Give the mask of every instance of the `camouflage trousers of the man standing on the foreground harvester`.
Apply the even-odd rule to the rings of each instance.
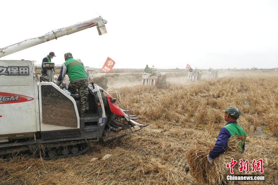
[[[86,111],[86,104],[88,101],[88,80],[79,80],[79,81],[72,81],[68,85],[68,90],[71,91],[73,94],[80,94],[80,107],[81,107],[81,114],[85,114]]]

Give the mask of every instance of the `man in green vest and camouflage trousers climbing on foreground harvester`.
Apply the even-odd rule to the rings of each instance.
[[[65,63],[62,64],[60,75],[57,79],[56,85],[60,85],[65,77],[65,74],[70,78],[68,90],[76,94],[77,90],[80,94],[81,117],[85,115],[86,103],[88,101],[88,71],[83,63],[72,57],[71,53],[65,53]]]

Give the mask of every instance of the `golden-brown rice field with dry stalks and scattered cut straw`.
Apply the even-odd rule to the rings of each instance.
[[[265,176],[265,181],[229,184],[278,184],[277,76],[117,90],[126,108],[148,127],[121,139],[92,143],[77,157],[2,159],[0,184],[198,184],[190,175],[186,153],[198,142],[216,141],[225,124],[221,110],[229,106],[242,111],[238,123],[247,133],[244,158],[262,158]]]

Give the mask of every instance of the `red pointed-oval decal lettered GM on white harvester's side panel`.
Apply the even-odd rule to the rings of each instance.
[[[13,103],[20,103],[25,101],[31,101],[34,98],[29,96],[13,94],[9,92],[0,92],[0,104],[13,104]]]

